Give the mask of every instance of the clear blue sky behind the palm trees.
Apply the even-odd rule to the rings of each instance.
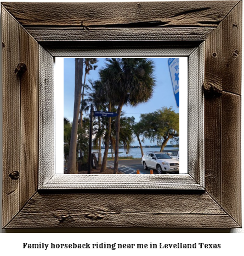
[[[136,107],[123,106],[122,111],[125,116],[135,117],[135,121],[138,122],[141,113],[154,112],[162,107],[172,107],[173,110],[179,113],[179,108],[176,105],[171,76],[168,67],[168,58],[150,58],[155,64],[154,77],[156,80],[156,86],[152,98],[146,102],[139,104]],[[99,69],[104,66],[105,58],[98,58],[98,68],[91,70],[87,75],[86,83],[88,79],[93,81],[99,79]],[[88,83],[89,84],[89,83]],[[72,122],[73,119],[73,101],[75,94],[75,58],[64,58],[64,117]],[[139,145],[137,139],[135,139],[132,145]],[[150,143],[149,140],[145,140],[143,145],[156,145]]]

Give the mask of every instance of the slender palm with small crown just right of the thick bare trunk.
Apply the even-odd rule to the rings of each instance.
[[[86,88],[86,77],[89,75],[90,70],[95,70],[98,66],[95,65],[98,62],[97,58],[84,58],[84,82],[82,86],[82,94],[81,94],[81,110],[80,110],[80,127],[82,128],[82,119],[83,119],[83,100],[84,100],[84,89]]]

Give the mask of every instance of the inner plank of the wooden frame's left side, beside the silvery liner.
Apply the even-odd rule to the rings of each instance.
[[[38,43],[20,28],[20,208],[38,186]]]

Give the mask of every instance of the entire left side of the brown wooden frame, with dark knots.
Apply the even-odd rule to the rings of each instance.
[[[4,8],[2,17],[4,226],[37,190],[38,43]]]

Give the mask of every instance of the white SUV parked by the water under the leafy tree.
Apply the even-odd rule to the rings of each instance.
[[[141,159],[141,164],[145,170],[156,169],[158,174],[163,172],[179,173],[180,170],[179,161],[163,152],[146,152]]]

